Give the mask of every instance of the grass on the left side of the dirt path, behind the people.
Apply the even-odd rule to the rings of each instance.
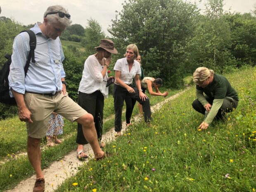
[[[169,90],[170,97],[179,90]],[[151,104],[156,104],[164,97],[150,97]],[[114,99],[111,95],[104,101],[104,133],[114,127]],[[125,106],[123,107],[125,109]],[[137,105],[133,111],[133,115],[137,114]],[[123,112],[123,120],[125,120],[125,112]],[[76,145],[76,123],[70,123],[64,120],[64,133],[58,138],[64,139],[63,143],[55,147],[44,147],[42,152],[42,168],[47,168],[53,161],[62,159],[67,153],[75,150]],[[18,117],[0,121],[0,191],[7,190],[17,185],[21,180],[28,178],[34,174],[33,168],[29,164],[26,155],[26,125],[19,121]],[[74,157],[76,158],[76,157]]]

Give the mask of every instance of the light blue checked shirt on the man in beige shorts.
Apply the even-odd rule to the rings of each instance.
[[[56,40],[46,38],[36,24],[31,30],[36,34],[36,63],[30,62],[28,72],[24,66],[28,57],[29,35],[20,33],[14,39],[12,47],[12,64],[10,65],[9,87],[21,94],[28,92],[52,93],[62,90],[61,78],[65,77],[62,62],[64,54],[59,37]],[[10,91],[11,97],[12,91]]]

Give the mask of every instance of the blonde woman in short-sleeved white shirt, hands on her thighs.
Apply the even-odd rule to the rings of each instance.
[[[122,109],[123,101],[126,95],[142,104],[144,120],[149,123],[151,120],[151,109],[149,98],[142,92],[140,85],[140,63],[136,59],[139,50],[135,44],[126,47],[125,57],[118,59],[114,66],[115,84],[114,84],[114,107],[115,107],[115,131],[116,135],[121,135],[122,129]],[[136,87],[133,85],[135,78]]]

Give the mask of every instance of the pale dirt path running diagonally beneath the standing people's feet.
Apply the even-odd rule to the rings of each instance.
[[[175,99],[179,95],[183,94],[187,89],[168,97],[163,102],[159,102],[158,104],[151,107],[152,113],[154,111],[159,110],[166,102]],[[140,120],[140,116],[137,115],[134,118],[134,122]],[[122,133],[126,131],[126,122],[124,121],[122,124]],[[115,131],[114,128],[111,128],[107,133],[102,135],[102,140],[106,143],[114,140]],[[84,150],[87,154],[90,154],[90,158],[93,158],[93,152],[90,145],[84,145]],[[90,159],[89,158],[89,159]],[[43,170],[43,174],[45,176],[45,192],[53,192],[57,189],[58,185],[61,185],[64,180],[69,178],[72,175],[75,175],[77,172],[77,168],[82,166],[86,161],[79,161],[76,158],[76,151],[70,152],[60,161],[53,162],[48,168]],[[33,186],[36,180],[36,175],[31,176],[30,178],[21,181],[14,189],[8,190],[5,192],[31,192],[33,191]]]

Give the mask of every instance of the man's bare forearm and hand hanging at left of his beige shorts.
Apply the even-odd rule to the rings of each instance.
[[[24,101],[24,95],[12,90],[12,94],[17,102],[18,110],[19,110],[19,119],[21,121],[33,123],[31,120],[31,112],[26,107],[25,101]]]

